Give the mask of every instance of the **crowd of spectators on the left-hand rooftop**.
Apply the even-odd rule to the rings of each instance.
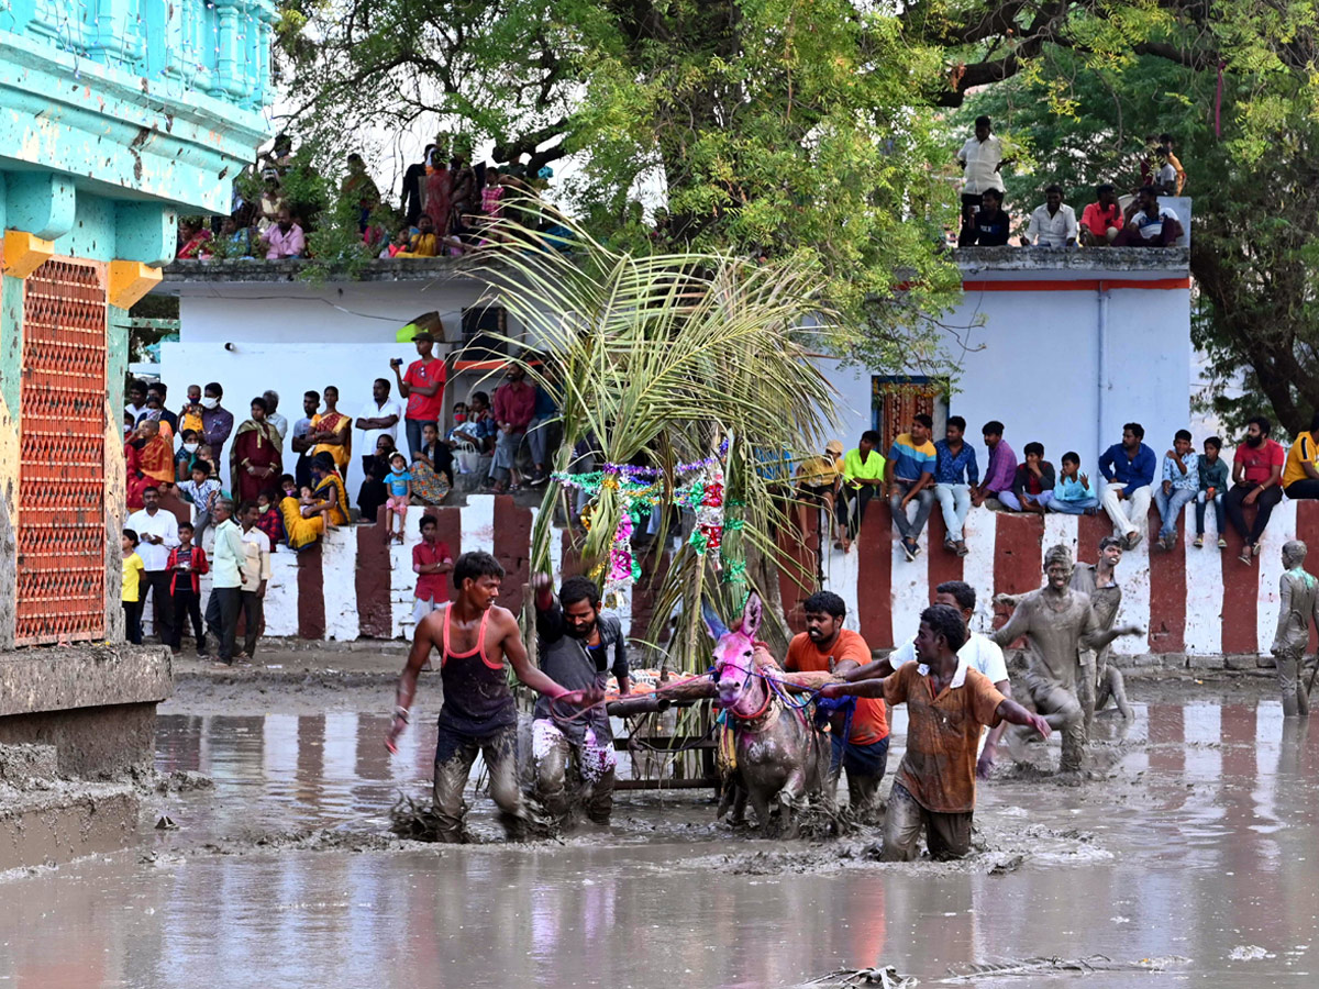
[[[372,256],[459,256],[499,240],[500,220],[514,214],[525,225],[554,227],[538,208],[539,195],[554,174],[547,166],[530,175],[520,160],[504,165],[471,162],[460,149],[448,153],[431,144],[422,161],[404,173],[397,206],[381,196],[360,154],[350,154],[346,166],[339,202],[352,211],[361,245]],[[244,173],[245,181],[235,183],[227,216],[179,220],[175,257],[274,261],[313,256],[309,235],[324,222],[330,207],[297,195],[299,185],[289,177],[299,167],[305,166],[295,162],[291,141],[281,135],[273,149]]]

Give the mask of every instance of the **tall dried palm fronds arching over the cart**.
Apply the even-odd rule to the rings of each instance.
[[[715,253],[619,253],[571,220],[559,223],[567,231],[561,237],[501,227],[503,241],[481,252],[479,264],[489,301],[522,330],[508,342],[546,357],[545,365],[522,361],[528,377],[561,396],[555,471],[571,469],[574,446],[584,439],[607,463],[657,468],[660,489],[673,492],[683,480],[677,464],[729,442],[728,517],[740,522],[727,530],[723,559],[733,566],[687,545],[656,595],[657,626],[687,605],[674,642],[677,666],[694,669],[704,638],[702,593],[716,596],[723,584],[731,612],[741,605],[748,556],[765,563],[751,568],[752,583],[797,567],[776,533],[789,524],[794,460],[823,447],[836,402],[811,360],[813,344],[823,349],[826,336],[839,339],[819,297],[823,280],[798,257],[757,264]],[[533,570],[549,568],[557,497],[551,484],[533,531]],[[621,508],[608,487],[590,506],[580,547],[586,572],[608,559]],[[658,628],[648,636],[658,641]]]

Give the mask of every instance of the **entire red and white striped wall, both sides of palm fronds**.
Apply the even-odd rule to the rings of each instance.
[[[534,510],[517,506],[508,496],[472,496],[466,508],[426,512],[439,520],[439,538],[455,558],[467,550],[487,550],[504,564],[508,578],[500,603],[520,608]],[[274,578],[266,589],[266,634],[336,641],[410,637],[417,580],[412,549],[421,538],[421,513],[409,512],[402,546],[386,546],[379,526],[346,526],[299,554],[281,547],[272,559]],[[1212,512],[1206,522],[1207,546],[1196,550],[1184,535],[1195,530],[1188,506],[1177,547],[1163,553],[1150,549],[1158,533],[1158,516],[1150,512],[1149,537],[1125,554],[1119,567],[1119,620],[1137,622],[1148,633],[1144,638],[1119,640],[1115,647],[1120,654],[1266,651],[1277,622],[1282,543],[1304,539],[1315,547],[1319,567],[1319,502],[1283,501],[1273,513],[1254,566],[1237,559],[1241,539],[1235,533],[1228,533],[1225,550],[1216,547]],[[874,649],[915,634],[921,611],[944,580],[966,580],[976,588],[973,624],[985,630],[1002,620],[1004,609],[995,614],[996,593],[1022,593],[1041,585],[1049,546],[1066,543],[1080,560],[1093,563],[1099,541],[1109,531],[1103,514],[1041,518],[972,509],[966,529],[971,554],[959,558],[943,550],[943,518],[936,506],[921,537],[921,555],[907,562],[893,538],[888,505],[874,500],[852,551],[845,556],[840,550],[828,551],[824,585],[847,601],[848,624]],[[555,570],[572,572],[574,563],[565,556],[566,539],[551,545]],[[813,559],[803,562],[815,572]],[[644,559],[648,572],[662,563],[663,558]],[[781,592],[789,622],[799,628],[799,603],[809,591],[785,576]],[[646,626],[650,595],[645,587],[632,593],[627,611],[625,629]]]

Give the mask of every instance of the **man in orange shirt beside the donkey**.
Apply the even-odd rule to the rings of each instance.
[[[806,632],[787,646],[783,669],[789,673],[832,673],[842,676],[871,662],[871,647],[860,634],[843,628],[847,605],[836,593],[816,591],[806,599]],[[849,709],[851,708],[851,709]],[[847,791],[857,811],[871,808],[880,791],[880,779],[889,761],[889,719],[884,702],[860,698],[844,705],[820,704],[831,713],[834,758],[830,771],[834,786],[847,770]]]

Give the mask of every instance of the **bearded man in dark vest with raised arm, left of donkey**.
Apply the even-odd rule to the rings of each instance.
[[[600,609],[600,588],[584,576],[571,576],[555,600],[549,574],[537,574],[536,634],[541,671],[565,690],[604,690],[612,673],[619,694],[628,694],[628,642],[619,616]],[[532,721],[532,758],[536,795],[558,819],[570,812],[568,774],[587,816],[608,824],[613,810],[613,732],[609,716],[596,707],[566,720],[549,695],[536,703]]]

